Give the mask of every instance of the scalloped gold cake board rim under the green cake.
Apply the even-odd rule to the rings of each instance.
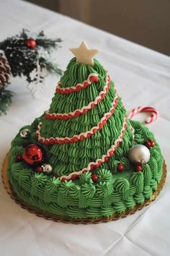
[[[151,202],[156,200],[156,197],[159,195],[161,192],[161,189],[164,187],[164,183],[166,180],[166,163],[164,161],[164,166],[163,166],[163,174],[161,176],[161,180],[158,183],[158,187],[156,191],[153,192],[153,195],[151,198],[145,200],[142,204],[135,205],[133,209],[125,210],[123,213],[115,213],[112,216],[109,217],[100,217],[100,218],[69,218],[69,217],[63,217],[63,216],[56,216],[54,214],[50,214],[44,211],[41,211],[38,208],[32,207],[31,205],[27,205],[19,198],[17,195],[14,193],[14,190],[12,189],[12,186],[9,184],[9,180],[7,177],[7,168],[8,168],[8,161],[9,161],[9,153],[6,154],[6,157],[4,159],[4,163],[2,166],[2,181],[4,183],[4,187],[8,194],[12,197],[12,199],[15,200],[19,205],[21,205],[22,208],[28,210],[30,213],[35,213],[36,216],[52,220],[52,221],[57,221],[57,222],[64,222],[64,223],[74,223],[74,224],[88,224],[88,223],[101,223],[101,222],[108,222],[108,221],[116,221],[120,218],[125,218],[131,214],[134,214],[137,210],[143,209],[146,205],[150,205]]]

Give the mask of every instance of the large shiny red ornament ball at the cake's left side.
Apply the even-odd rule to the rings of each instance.
[[[43,160],[42,149],[36,144],[31,144],[24,149],[22,158],[26,163],[30,164],[30,166],[41,163]]]

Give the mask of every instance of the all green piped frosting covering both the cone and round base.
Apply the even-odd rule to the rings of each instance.
[[[91,73],[98,74],[98,82],[91,82],[86,90],[68,95],[55,93],[50,104],[50,113],[68,113],[87,106],[104,88],[107,72],[97,60],[94,59],[94,67],[91,67],[78,64],[73,58],[61,77],[62,88],[83,82]],[[20,200],[58,216],[98,218],[134,208],[136,204],[143,203],[146,198],[153,195],[161,179],[163,158],[153,133],[138,121],[127,121],[127,129],[115,154],[95,170],[97,182],[93,181],[90,171],[73,181],[60,180],[60,176],[79,171],[88,166],[89,162],[101,158],[120,136],[126,115],[120,98],[114,114],[109,117],[107,123],[88,139],[68,144],[41,145],[35,137],[40,121],[41,135],[44,137],[72,137],[89,131],[98,124],[105,113],[109,112],[114,97],[115,88],[111,81],[109,92],[104,99],[86,114],[73,119],[55,121],[45,119],[43,114],[30,126],[22,127],[30,129],[31,135],[27,139],[22,139],[18,133],[12,140],[8,168],[9,182]],[[131,126],[135,129],[135,141]],[[133,164],[128,160],[128,151],[133,144],[144,144],[148,139],[155,142],[154,148],[150,149],[150,161],[143,164],[141,172],[135,172]],[[53,174],[58,174],[58,178],[53,174],[38,174],[34,167],[28,166],[24,161],[17,162],[16,155],[22,155],[24,148],[31,143],[40,145],[45,150],[45,161],[53,166]],[[122,172],[117,171],[118,163],[124,165]]]

